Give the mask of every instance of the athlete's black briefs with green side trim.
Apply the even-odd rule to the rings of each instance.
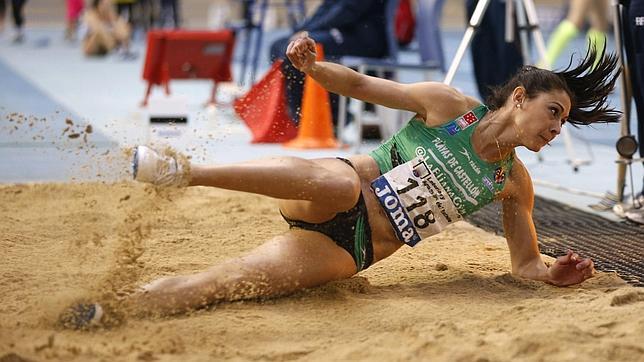
[[[351,161],[339,158],[353,167]],[[353,167],[355,169],[355,167]],[[317,231],[333,240],[339,247],[346,250],[356,263],[358,271],[367,269],[373,263],[373,245],[371,243],[371,227],[367,215],[367,204],[362,192],[354,207],[350,210],[339,212],[329,221],[319,224],[308,223],[300,220],[282,217],[291,228]]]

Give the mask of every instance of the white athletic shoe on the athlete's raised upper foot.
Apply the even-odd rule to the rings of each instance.
[[[184,181],[183,165],[176,157],[159,154],[147,146],[137,146],[132,158],[134,180],[157,186],[180,186]]]

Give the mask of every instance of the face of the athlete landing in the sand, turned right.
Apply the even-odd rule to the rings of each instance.
[[[523,87],[512,95],[519,143],[537,152],[561,132],[570,113],[570,97],[560,89],[528,98]]]

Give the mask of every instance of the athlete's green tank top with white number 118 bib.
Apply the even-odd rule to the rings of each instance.
[[[489,163],[471,138],[488,112],[480,105],[439,127],[411,119],[370,153],[381,176],[371,183],[400,241],[414,246],[494,200],[514,160]]]

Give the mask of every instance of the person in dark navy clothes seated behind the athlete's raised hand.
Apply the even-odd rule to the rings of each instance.
[[[311,17],[296,26],[295,32],[271,45],[270,60],[284,59],[282,72],[286,76],[286,96],[291,119],[299,123],[304,73],[285,59],[286,48],[292,39],[303,32],[324,47],[327,58],[345,55],[385,57],[387,42],[385,22],[386,0],[324,0]],[[331,105],[337,119],[337,96]]]

